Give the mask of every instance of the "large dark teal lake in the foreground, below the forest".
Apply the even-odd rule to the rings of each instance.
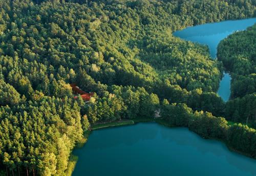
[[[256,175],[256,160],[230,152],[187,128],[138,123],[93,131],[73,176]]]

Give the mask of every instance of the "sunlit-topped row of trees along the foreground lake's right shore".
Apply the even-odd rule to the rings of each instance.
[[[184,104],[170,105],[166,101],[161,112],[163,124],[188,127],[203,138],[221,139],[232,149],[256,157],[256,130],[247,125],[228,125],[223,117],[215,117],[209,112],[194,112]]]

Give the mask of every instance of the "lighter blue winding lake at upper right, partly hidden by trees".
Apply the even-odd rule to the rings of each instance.
[[[210,56],[216,58],[217,46],[221,40],[236,31],[242,31],[252,26],[256,22],[256,18],[243,20],[229,20],[215,23],[202,24],[195,27],[189,27],[174,33],[174,36],[184,40],[206,44],[210,49]],[[224,73],[224,77],[220,82],[218,94],[226,102],[230,96],[229,74]]]

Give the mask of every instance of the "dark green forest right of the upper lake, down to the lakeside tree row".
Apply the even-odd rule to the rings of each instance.
[[[256,24],[234,33],[218,46],[218,59],[231,75],[226,117],[256,127]]]

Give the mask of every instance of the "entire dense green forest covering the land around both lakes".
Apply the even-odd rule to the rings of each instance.
[[[172,35],[255,17],[255,1],[0,0],[0,7],[0,175],[68,175],[71,152],[93,125],[156,112],[256,157],[256,131],[246,125],[255,125],[255,106],[239,103],[248,96],[255,104],[255,84],[248,92],[236,86],[255,82],[255,49],[244,49],[255,46],[255,27],[225,39],[218,60],[207,46]],[[229,42],[240,37],[237,54]],[[237,70],[243,64],[249,72]],[[223,70],[236,79],[227,104],[216,94]],[[79,91],[93,95],[84,101]],[[249,107],[249,118],[226,111],[233,104]]]

